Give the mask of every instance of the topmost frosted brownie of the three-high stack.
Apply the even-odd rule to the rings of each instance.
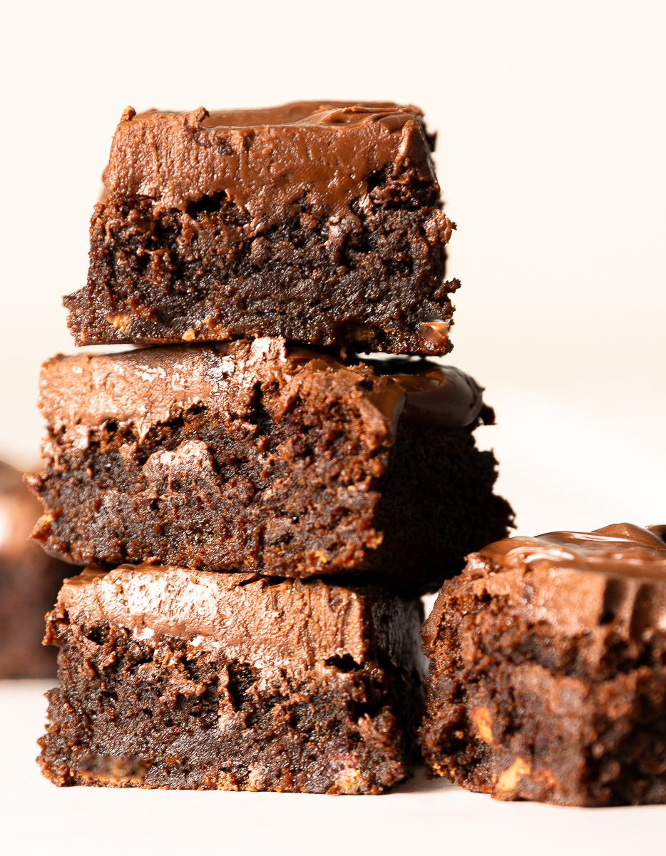
[[[256,336],[443,354],[451,223],[413,105],[128,108],[90,229],[78,344]]]

